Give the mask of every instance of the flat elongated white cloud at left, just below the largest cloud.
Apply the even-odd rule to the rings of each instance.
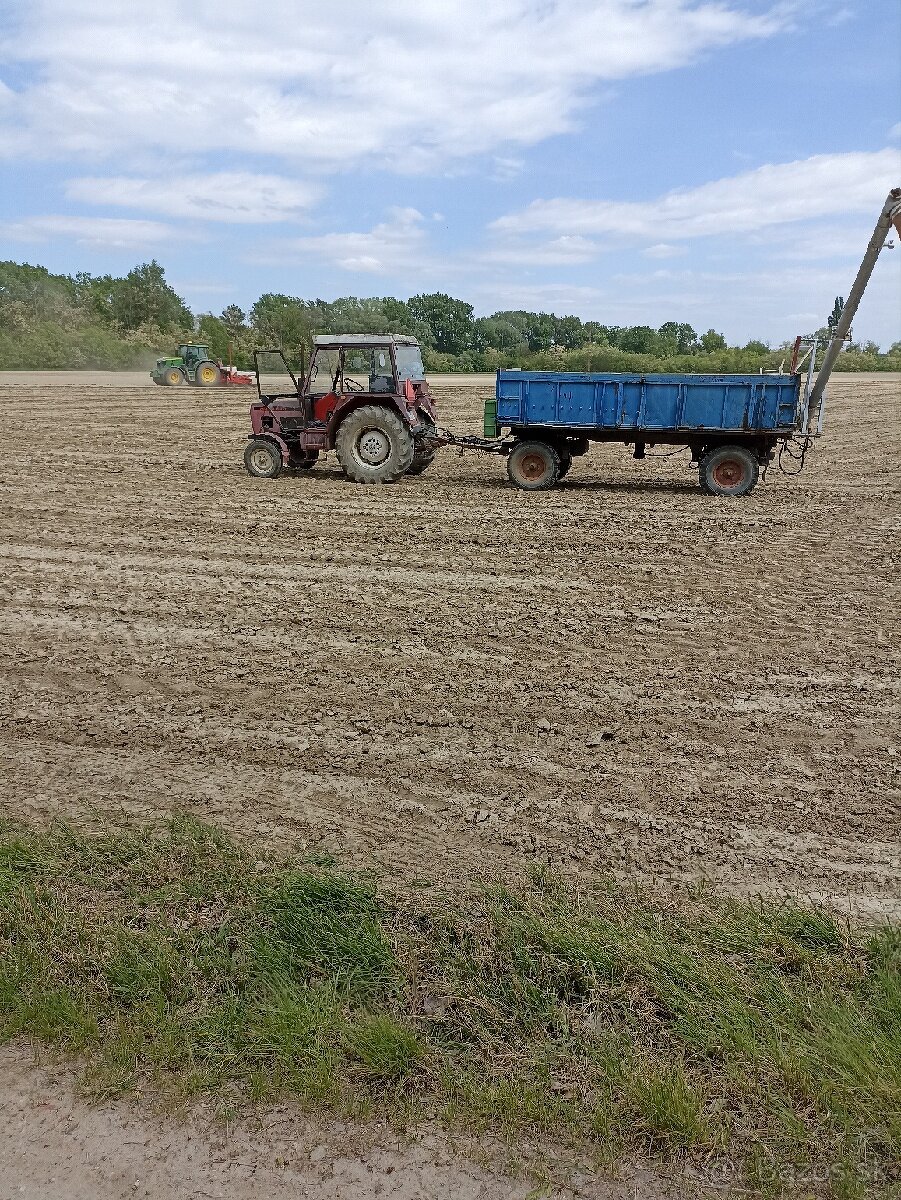
[[[202,221],[266,223],[295,220],[320,196],[310,184],[281,175],[211,172],[158,179],[73,179],[66,196],[88,204],[115,205]]]

